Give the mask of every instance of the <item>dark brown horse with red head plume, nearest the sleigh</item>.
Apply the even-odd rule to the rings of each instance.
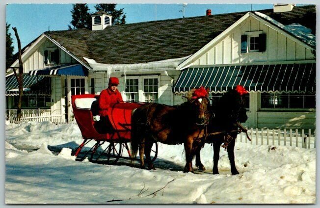
[[[138,147],[140,165],[144,168],[143,154],[148,161],[148,168],[155,169],[150,152],[154,142],[169,145],[184,143],[186,152],[185,172],[192,172],[192,158],[200,151],[206,134],[210,105],[208,92],[201,87],[193,90],[190,99],[178,106],[164,104],[145,104],[137,108],[132,116],[131,151],[135,158]]]

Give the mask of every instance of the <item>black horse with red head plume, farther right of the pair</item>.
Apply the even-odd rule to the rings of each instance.
[[[242,86],[238,85],[236,89],[229,90],[220,98],[220,100],[209,108],[210,111],[214,113],[214,117],[210,120],[208,125],[206,143],[213,143],[213,174],[219,174],[219,152],[220,146],[224,142],[227,142],[226,148],[231,164],[231,173],[232,175],[239,174],[235,164],[234,148],[238,134],[236,131],[240,127],[239,124],[248,119],[241,97],[246,93],[247,91]],[[240,129],[244,130],[242,127],[240,127]],[[210,136],[210,134],[212,136]],[[205,170],[205,167],[200,160],[200,149],[196,152],[196,166],[199,170]]]

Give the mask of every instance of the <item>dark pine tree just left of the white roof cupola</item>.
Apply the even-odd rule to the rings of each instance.
[[[70,23],[73,27],[68,25],[69,29],[87,28],[91,30],[91,16],[88,5],[86,3],[76,3],[72,6],[72,21]]]

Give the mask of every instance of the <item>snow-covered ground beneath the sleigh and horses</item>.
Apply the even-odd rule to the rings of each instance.
[[[183,145],[159,144],[157,170],[75,161],[82,142],[77,124],[29,122],[6,125],[7,204],[304,204],[316,202],[316,149],[236,143],[239,175],[232,176],[220,150],[219,175],[212,174],[213,149],[201,151],[208,171],[183,173]],[[93,144],[92,144],[93,145]],[[48,146],[60,147],[53,154]],[[27,152],[27,151],[28,152]],[[138,162],[134,162],[138,166]]]

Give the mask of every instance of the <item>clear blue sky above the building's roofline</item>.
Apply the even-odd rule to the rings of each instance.
[[[95,12],[95,4],[88,4],[90,12]],[[185,7],[185,17],[240,11],[270,9],[273,4],[192,4]],[[183,4],[117,4],[117,9],[124,8],[126,23],[138,23],[155,20],[182,18]],[[157,15],[156,15],[157,8]],[[72,4],[13,4],[6,7],[6,22],[11,25],[9,32],[14,38],[14,53],[18,51],[17,41],[12,27],[17,27],[22,48],[48,30],[65,30],[71,25]]]

